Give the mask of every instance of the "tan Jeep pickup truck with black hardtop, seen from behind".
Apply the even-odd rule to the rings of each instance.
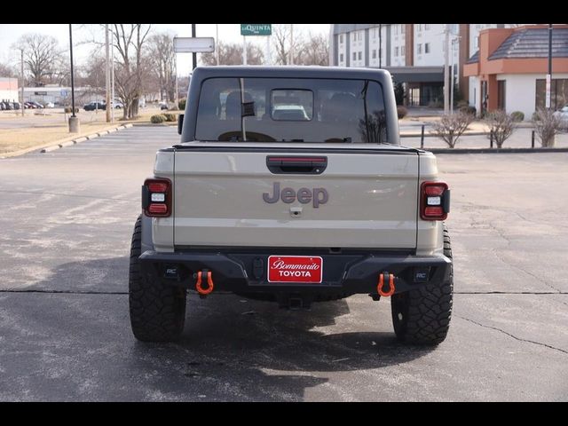
[[[292,309],[390,298],[400,340],[446,338],[450,191],[433,154],[400,146],[387,71],[198,67],[184,117],[142,186],[130,254],[139,340],[179,338],[188,291]]]

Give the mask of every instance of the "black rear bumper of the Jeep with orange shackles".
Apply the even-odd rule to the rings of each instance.
[[[152,250],[140,257],[142,278],[159,280],[164,284],[195,289],[196,273],[212,272],[215,292],[234,293],[312,293],[349,296],[377,295],[381,272],[396,276],[395,293],[450,280],[452,261],[446,256],[412,256],[406,254],[323,254],[317,250],[310,256],[323,258],[321,283],[278,283],[267,280],[267,259],[274,254],[286,255],[282,249],[262,252],[175,252],[158,253]],[[284,251],[284,253],[283,253]],[[297,254],[297,250],[295,251]]]

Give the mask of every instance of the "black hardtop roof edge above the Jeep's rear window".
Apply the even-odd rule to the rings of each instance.
[[[274,78],[347,78],[390,80],[390,73],[384,69],[351,67],[305,67],[305,66],[217,66],[196,67],[192,78],[204,80],[211,77],[274,77]]]

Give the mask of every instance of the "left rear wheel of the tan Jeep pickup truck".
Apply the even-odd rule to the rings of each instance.
[[[142,217],[138,216],[130,246],[129,303],[134,336],[143,342],[169,342],[179,338],[185,322],[185,289],[142,280],[140,256]]]

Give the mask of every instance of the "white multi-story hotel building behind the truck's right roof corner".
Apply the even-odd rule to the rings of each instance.
[[[513,24],[332,24],[330,64],[339,67],[383,67],[406,86],[405,103],[442,106],[446,29],[448,66],[461,99],[469,99],[469,79],[460,73],[477,51],[485,28]]]

